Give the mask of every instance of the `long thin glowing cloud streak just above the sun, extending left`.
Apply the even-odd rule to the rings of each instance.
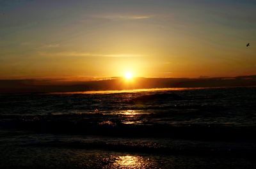
[[[140,54],[93,54],[86,52],[38,52],[48,57],[143,57]]]

